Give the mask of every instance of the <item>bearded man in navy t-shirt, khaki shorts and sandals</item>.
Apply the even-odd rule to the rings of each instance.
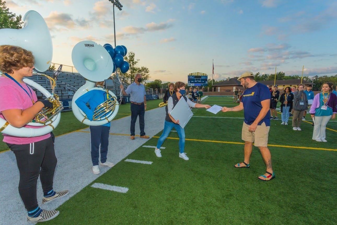
[[[238,81],[246,88],[242,95],[242,102],[233,108],[222,108],[222,112],[244,110],[245,120],[242,126],[242,140],[245,141],[244,161],[234,167],[249,167],[254,142],[254,145],[260,149],[267,167],[266,173],[259,176],[258,179],[269,181],[275,177],[271,154],[267,147],[270,129],[270,91],[266,85],[254,80],[252,72],[243,73]]]

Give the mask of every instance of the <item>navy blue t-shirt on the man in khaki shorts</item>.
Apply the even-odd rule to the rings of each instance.
[[[261,102],[270,99],[269,88],[261,83],[256,83],[251,88],[247,88],[242,95],[242,103],[244,108],[245,123],[251,125],[262,109]],[[269,107],[269,106],[268,106]],[[266,126],[270,126],[270,111],[266,116],[258,123],[261,125],[263,122]]]

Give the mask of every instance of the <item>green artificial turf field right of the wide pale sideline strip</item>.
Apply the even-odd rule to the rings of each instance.
[[[234,104],[228,99],[209,97],[205,104]],[[243,117],[243,112],[214,115],[197,109],[194,116],[185,127],[186,139],[243,142],[243,119],[212,118]],[[337,148],[334,131],[327,131],[329,142],[318,143],[311,139],[309,123],[302,123],[302,131],[280,123],[271,121],[269,144]],[[335,122],[328,127],[337,129]],[[160,135],[145,145],[155,146]],[[171,132],[169,137],[178,136]],[[256,147],[250,168],[238,169],[234,164],[243,160],[243,144],[186,140],[189,161],[178,157],[178,140],[166,139],[162,146],[162,158],[144,147],[127,156],[151,161],[151,165],[122,160],[93,181],[127,187],[127,193],[90,184],[62,204],[60,215],[45,224],[337,223],[336,151],[270,146],[276,178],[264,182],[257,179],[266,168]]]

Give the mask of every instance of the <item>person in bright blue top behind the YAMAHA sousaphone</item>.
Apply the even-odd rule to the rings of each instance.
[[[103,86],[104,81],[97,82],[96,86]],[[102,104],[108,99],[106,92],[103,90],[91,90],[87,93],[81,95],[76,99],[76,105],[87,115],[87,118],[92,121],[94,111],[97,106]],[[89,103],[90,109],[87,107]],[[100,170],[98,167],[99,158],[99,145],[101,146],[101,162],[99,165],[113,167],[114,164],[106,161],[106,155],[108,154],[109,145],[109,132],[110,132],[110,122],[105,123],[100,126],[89,126],[90,128],[90,142],[91,142],[91,161],[92,161],[92,172],[94,174],[99,174]]]

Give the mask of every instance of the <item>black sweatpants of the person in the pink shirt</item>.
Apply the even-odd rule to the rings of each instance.
[[[37,178],[40,175],[43,192],[53,189],[57,159],[52,138],[30,144],[8,144],[17,159],[20,171],[19,194],[27,211],[38,206],[36,198]]]

